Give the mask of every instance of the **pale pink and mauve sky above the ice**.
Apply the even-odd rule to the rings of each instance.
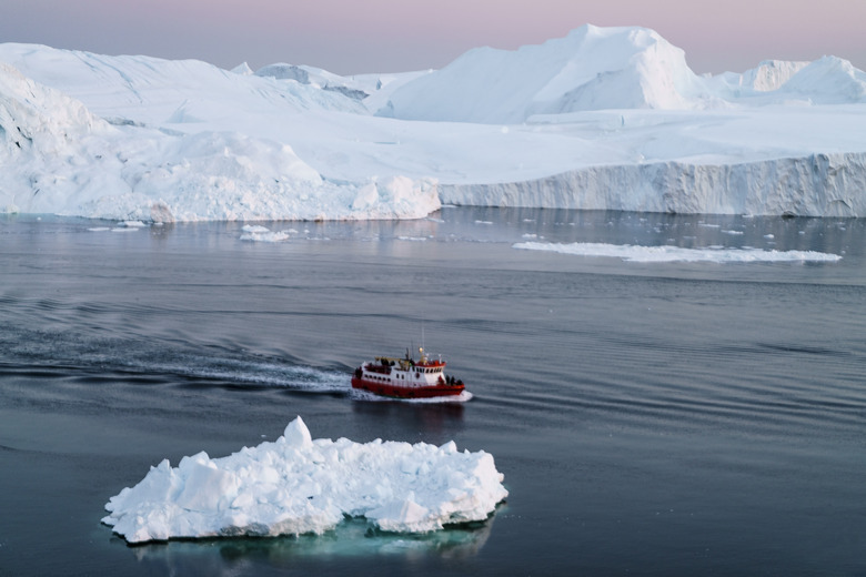
[[[0,42],[339,74],[439,69],[585,23],[652,28],[697,73],[830,54],[866,69],[866,0],[0,0]]]

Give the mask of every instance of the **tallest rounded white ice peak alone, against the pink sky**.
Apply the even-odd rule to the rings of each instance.
[[[534,114],[691,109],[711,99],[685,53],[645,28],[584,26],[516,51],[479,48],[397,89],[379,113],[514,124]]]

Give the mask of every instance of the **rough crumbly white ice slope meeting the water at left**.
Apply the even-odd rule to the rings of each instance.
[[[417,219],[440,207],[433,180],[328,179],[289,144],[208,130],[207,109],[184,100],[165,125],[147,123],[153,110],[109,121],[0,62],[0,211],[174,222]],[[169,128],[185,124],[204,130]]]

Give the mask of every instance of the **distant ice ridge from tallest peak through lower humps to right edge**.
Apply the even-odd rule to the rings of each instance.
[[[480,48],[396,89],[377,113],[404,120],[515,124],[593,110],[717,110],[779,102],[866,102],[850,62],[764,61],[743,74],[699,77],[653,30],[584,26],[516,51]]]

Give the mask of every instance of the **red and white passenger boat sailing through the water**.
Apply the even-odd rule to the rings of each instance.
[[[415,361],[406,351],[403,358],[377,356],[352,375],[352,387],[395,398],[431,398],[463,393],[463,381],[445,375],[445,362],[431,360],[423,348]]]

